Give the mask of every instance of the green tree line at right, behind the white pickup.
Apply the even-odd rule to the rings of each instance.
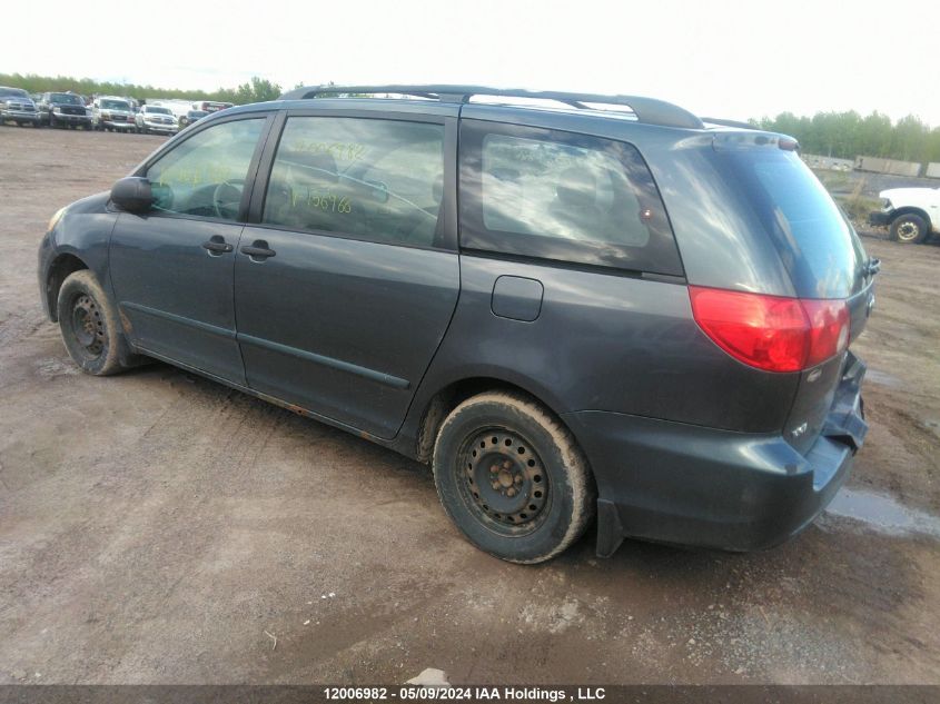
[[[804,153],[841,159],[867,156],[921,163],[940,161],[940,127],[931,130],[913,115],[892,122],[877,111],[867,117],[854,110],[817,112],[813,117],[781,112],[775,118],[751,122],[761,129],[795,137]]]

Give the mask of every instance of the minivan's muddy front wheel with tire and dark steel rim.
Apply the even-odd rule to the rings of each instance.
[[[118,311],[91,271],[82,269],[66,278],[57,310],[62,341],[82,371],[108,376],[123,368],[120,358],[128,350]]]

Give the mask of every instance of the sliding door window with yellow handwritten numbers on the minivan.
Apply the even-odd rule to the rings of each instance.
[[[263,222],[432,247],[444,184],[444,127],[293,117],[278,145]]]

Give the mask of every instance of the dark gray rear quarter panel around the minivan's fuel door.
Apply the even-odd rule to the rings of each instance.
[[[540,280],[541,315],[494,315],[501,276]],[[756,371],[699,329],[684,285],[462,255],[462,291],[422,396],[469,377],[515,384],[555,413],[612,410],[779,430],[798,375]]]

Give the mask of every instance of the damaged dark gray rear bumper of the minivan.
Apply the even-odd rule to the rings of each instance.
[[[845,480],[868,432],[849,354],[822,435],[800,454],[781,435],[606,412],[565,414],[597,482],[597,554],[625,536],[754,551],[799,533]]]

